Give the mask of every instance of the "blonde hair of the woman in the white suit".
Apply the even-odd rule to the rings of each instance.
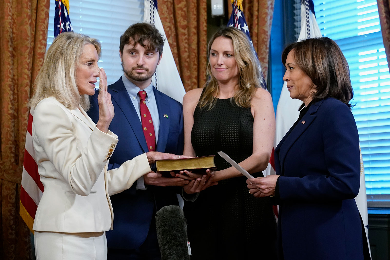
[[[80,95],[76,85],[76,69],[85,44],[92,44],[100,58],[101,45],[97,39],[75,32],[58,35],[49,49],[34,82],[34,94],[29,106],[34,108],[46,97],[55,97],[65,107],[84,110],[90,107],[89,96]]]

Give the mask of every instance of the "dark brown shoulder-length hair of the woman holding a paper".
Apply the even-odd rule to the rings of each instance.
[[[313,101],[333,97],[349,108],[353,106],[349,102],[353,90],[348,63],[336,42],[328,37],[319,37],[290,44],[282,53],[283,65],[292,50],[296,65],[316,85]]]

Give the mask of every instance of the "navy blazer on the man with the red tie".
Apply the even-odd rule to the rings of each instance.
[[[156,97],[160,129],[156,151],[183,154],[184,130],[181,103],[153,88]],[[119,168],[125,161],[148,152],[142,124],[124,87],[122,78],[108,86],[115,116],[110,131],[117,134],[118,144],[109,160],[109,168]],[[96,123],[99,120],[97,92],[91,96],[87,111]],[[168,117],[164,117],[164,115]],[[152,170],[155,170],[155,168]],[[106,232],[108,248],[135,249],[145,241],[153,212],[166,205],[178,205],[176,187],[149,186],[136,190],[137,182],[122,193],[111,196],[114,211],[113,230]]]

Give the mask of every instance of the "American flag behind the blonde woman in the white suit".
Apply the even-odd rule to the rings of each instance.
[[[69,19],[69,1],[55,0],[54,16],[54,37],[62,32],[73,32],[71,20]],[[43,184],[38,173],[38,165],[35,162],[35,152],[32,144],[32,119],[34,109],[30,110],[26,133],[25,154],[23,161],[23,172],[20,188],[20,209],[19,214],[25,221],[31,232],[34,224],[35,213],[43,195]]]

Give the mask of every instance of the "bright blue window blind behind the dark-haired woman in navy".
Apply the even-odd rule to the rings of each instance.
[[[354,90],[369,205],[390,196],[390,74],[375,0],[314,0],[323,36],[339,44]],[[383,204],[387,205],[387,204]]]

